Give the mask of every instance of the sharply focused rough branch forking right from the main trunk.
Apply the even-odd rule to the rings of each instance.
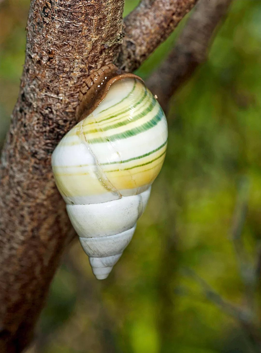
[[[125,19],[120,68],[133,71],[173,32],[197,0],[142,0]]]

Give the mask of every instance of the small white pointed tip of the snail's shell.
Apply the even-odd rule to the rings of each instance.
[[[110,274],[113,265],[116,264],[122,253],[106,257],[89,257],[92,271],[97,280],[104,280]]]

